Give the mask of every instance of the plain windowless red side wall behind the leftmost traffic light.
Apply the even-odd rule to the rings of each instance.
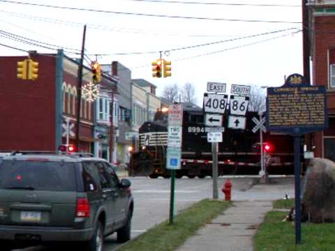
[[[0,57],[0,151],[54,150],[55,58],[38,61],[38,79],[17,79],[17,61],[27,57]]]

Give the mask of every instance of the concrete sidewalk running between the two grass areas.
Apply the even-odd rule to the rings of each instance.
[[[177,251],[253,251],[253,236],[272,210],[272,201],[283,199],[283,190],[280,192],[278,185],[262,184],[248,192],[262,196],[234,201],[234,206],[207,223]],[[285,185],[285,192],[294,192],[293,185]]]

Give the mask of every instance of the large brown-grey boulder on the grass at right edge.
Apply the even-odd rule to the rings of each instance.
[[[302,187],[302,217],[311,222],[335,222],[335,163],[310,160]]]

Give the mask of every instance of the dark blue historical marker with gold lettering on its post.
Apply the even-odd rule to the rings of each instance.
[[[278,88],[267,88],[267,130],[295,138],[295,244],[301,245],[301,135],[328,127],[325,86],[311,86],[292,74]]]

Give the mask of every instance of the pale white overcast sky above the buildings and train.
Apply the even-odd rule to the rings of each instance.
[[[0,0],[0,44],[40,53],[66,47],[75,57],[69,52],[80,52],[87,24],[87,61],[95,54],[100,63],[119,61],[132,78],[158,86],[158,95],[167,84],[188,82],[200,104],[207,82],[280,86],[285,75],[302,74],[301,1],[10,1]],[[54,50],[28,45],[27,38]],[[160,52],[172,61],[172,77],[151,77],[151,61]],[[0,53],[27,55],[1,45]]]

